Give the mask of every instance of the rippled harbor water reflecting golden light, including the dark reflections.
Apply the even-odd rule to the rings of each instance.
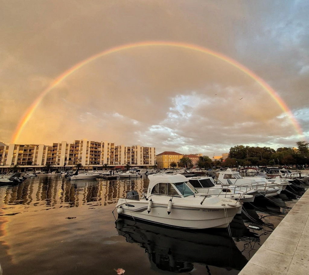
[[[0,186],[3,275],[238,274],[301,196],[296,186],[244,204],[227,229],[182,231],[117,219],[118,198],[146,191],[137,179],[27,178]],[[249,228],[252,223],[262,229]]]

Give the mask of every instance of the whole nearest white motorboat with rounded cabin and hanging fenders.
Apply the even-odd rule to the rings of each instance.
[[[187,229],[226,228],[241,204],[228,198],[198,193],[180,174],[149,175],[147,194],[133,190],[120,198],[119,215]]]

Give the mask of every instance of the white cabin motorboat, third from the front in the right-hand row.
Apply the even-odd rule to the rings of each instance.
[[[220,171],[218,182],[226,185],[253,187],[258,192],[256,198],[261,196],[274,197],[281,192],[276,182],[268,182],[266,178],[260,177],[242,177],[236,171]]]

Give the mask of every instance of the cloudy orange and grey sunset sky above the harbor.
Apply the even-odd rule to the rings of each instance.
[[[0,141],[86,138],[209,156],[295,146],[309,140],[308,14],[306,0],[1,1]],[[57,81],[91,56],[147,41],[235,60],[291,115],[243,70],[192,48],[123,47]]]

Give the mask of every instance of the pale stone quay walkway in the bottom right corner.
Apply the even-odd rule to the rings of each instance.
[[[239,275],[309,274],[309,189]]]

